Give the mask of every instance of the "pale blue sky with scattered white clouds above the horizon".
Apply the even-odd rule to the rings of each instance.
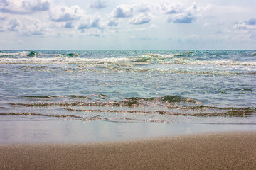
[[[255,0],[0,0],[0,49],[255,50]]]

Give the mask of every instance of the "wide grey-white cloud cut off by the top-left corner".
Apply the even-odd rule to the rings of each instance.
[[[0,2],[0,11],[4,13],[26,14],[48,11],[50,0],[4,0]]]

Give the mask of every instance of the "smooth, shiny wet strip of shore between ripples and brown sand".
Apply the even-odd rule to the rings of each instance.
[[[112,123],[107,121],[1,121],[1,144],[94,143],[256,131],[256,125]]]

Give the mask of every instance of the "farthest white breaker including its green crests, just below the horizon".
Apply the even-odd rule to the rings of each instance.
[[[253,53],[254,54],[254,53]],[[253,55],[252,54],[252,55]],[[23,51],[16,53],[0,53],[0,64],[186,64],[186,65],[218,65],[218,66],[256,66],[256,62],[233,60],[195,60],[190,57],[193,52],[178,54],[147,54],[137,57],[105,57],[85,58],[78,53],[67,54],[41,54],[35,51]],[[41,57],[44,56],[44,57]],[[17,58],[18,57],[18,58]],[[20,58],[21,57],[21,58]],[[129,66],[129,65],[127,65]]]

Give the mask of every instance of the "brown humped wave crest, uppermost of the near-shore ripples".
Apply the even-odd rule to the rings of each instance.
[[[252,91],[251,89],[237,89],[237,90],[247,90]],[[151,98],[142,98],[142,97],[131,97],[124,98],[117,101],[112,101],[105,94],[92,94],[90,96],[79,96],[79,95],[67,95],[67,96],[52,96],[52,95],[42,95],[42,96],[23,96],[21,98],[45,98],[49,103],[9,103],[11,106],[26,106],[26,107],[48,107],[48,106],[60,106],[60,107],[83,107],[83,106],[99,106],[99,107],[130,107],[130,108],[139,108],[140,106],[149,106],[149,107],[164,107],[170,109],[179,110],[196,110],[196,109],[217,109],[217,110],[230,110],[238,111],[240,108],[220,108],[214,106],[205,106],[201,105],[201,102],[195,98],[188,98],[183,96],[171,96],[166,95],[162,97],[151,97]],[[78,98],[85,99],[79,101],[73,101],[70,103],[53,103],[54,98],[64,98],[64,101],[67,101],[68,98]],[[99,100],[100,99],[100,100]],[[102,100],[103,99],[103,100]],[[52,101],[51,101],[52,100]],[[58,100],[59,101],[59,100]],[[256,111],[255,108],[242,108],[242,111]]]

